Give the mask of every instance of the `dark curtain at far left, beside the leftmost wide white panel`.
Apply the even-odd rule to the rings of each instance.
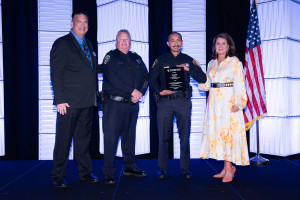
[[[37,1],[2,0],[5,156],[38,159]]]

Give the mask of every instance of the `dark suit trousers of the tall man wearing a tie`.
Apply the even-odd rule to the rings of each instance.
[[[66,176],[66,166],[72,139],[79,176],[83,177],[92,172],[89,152],[92,119],[93,107],[67,108],[67,114],[61,115],[57,113],[53,152],[53,179]]]

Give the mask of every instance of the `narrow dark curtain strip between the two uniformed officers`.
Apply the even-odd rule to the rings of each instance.
[[[149,70],[154,60],[168,51],[168,34],[172,32],[172,0],[149,0]],[[150,154],[144,157],[157,158],[158,131],[156,123],[156,103],[153,92],[150,93]],[[172,137],[171,137],[172,141]],[[173,144],[170,141],[169,155],[173,156]]]

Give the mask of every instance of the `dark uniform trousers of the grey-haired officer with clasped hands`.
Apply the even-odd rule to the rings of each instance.
[[[107,100],[103,105],[104,167],[106,177],[113,177],[114,159],[118,141],[121,147],[125,169],[135,168],[135,134],[139,113],[138,104]]]

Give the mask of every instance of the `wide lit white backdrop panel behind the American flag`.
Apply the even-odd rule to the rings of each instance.
[[[300,153],[300,1],[257,1],[268,116],[259,120],[260,152]],[[256,124],[250,129],[256,152]]]

